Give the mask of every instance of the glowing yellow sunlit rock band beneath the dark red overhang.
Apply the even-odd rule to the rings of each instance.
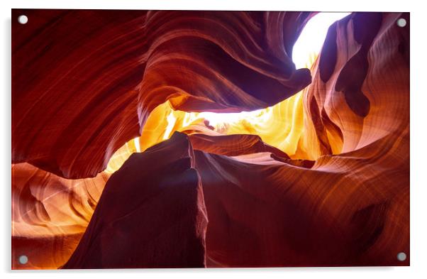
[[[318,53],[312,53],[306,62],[310,68]],[[170,102],[157,106],[148,117],[141,136],[128,141],[109,161],[106,173],[113,173],[134,152],[142,152],[156,143],[165,141],[174,131],[184,133],[207,133],[211,135],[252,134],[262,141],[279,148],[295,159],[315,160],[316,148],[304,140],[311,121],[304,121],[304,96],[309,87],[275,106],[240,113],[185,112],[172,109]],[[312,131],[311,131],[312,132]],[[340,148],[334,148],[339,153]]]

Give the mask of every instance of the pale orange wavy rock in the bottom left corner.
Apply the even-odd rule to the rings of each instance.
[[[12,165],[12,267],[57,268],[79,244],[108,173],[67,180],[28,163]],[[18,263],[21,255],[28,263]]]

